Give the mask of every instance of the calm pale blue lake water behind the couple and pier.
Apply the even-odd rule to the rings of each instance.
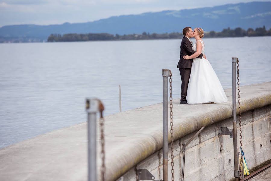
[[[193,39],[193,42],[195,40]],[[232,84],[231,57],[241,85],[271,81],[271,37],[204,39],[223,88]],[[106,115],[162,102],[162,68],[173,74],[181,40],[0,44],[0,148],[87,120],[85,97],[98,97]]]

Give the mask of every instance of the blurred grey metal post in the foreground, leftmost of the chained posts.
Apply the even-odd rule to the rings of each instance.
[[[88,136],[88,181],[97,180],[96,170],[96,113],[99,111],[99,100],[86,100],[87,136]]]

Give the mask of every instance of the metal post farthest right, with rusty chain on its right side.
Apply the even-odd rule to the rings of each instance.
[[[238,58],[232,58],[232,134],[234,154],[234,177],[239,180],[239,158],[237,151],[237,127],[236,127],[236,62]]]

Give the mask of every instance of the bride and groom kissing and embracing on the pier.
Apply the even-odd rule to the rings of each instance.
[[[181,75],[180,104],[203,104],[228,102],[222,85],[204,54],[204,31],[202,28],[191,27],[183,29],[181,41],[181,57],[177,68]],[[196,43],[192,45],[190,38]]]

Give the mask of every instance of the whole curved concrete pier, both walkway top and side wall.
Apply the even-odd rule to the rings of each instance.
[[[243,149],[253,169],[271,160],[271,82],[240,90]],[[225,93],[229,102],[222,104],[180,105],[179,98],[173,100],[176,180],[181,175],[181,144],[203,125],[206,128],[186,148],[184,180],[232,180],[232,139],[217,136],[219,126],[232,129],[232,89]],[[162,179],[162,103],[106,116],[105,140],[106,180],[123,176],[125,181],[135,181],[139,168]],[[86,123],[1,149],[0,180],[87,180]]]

